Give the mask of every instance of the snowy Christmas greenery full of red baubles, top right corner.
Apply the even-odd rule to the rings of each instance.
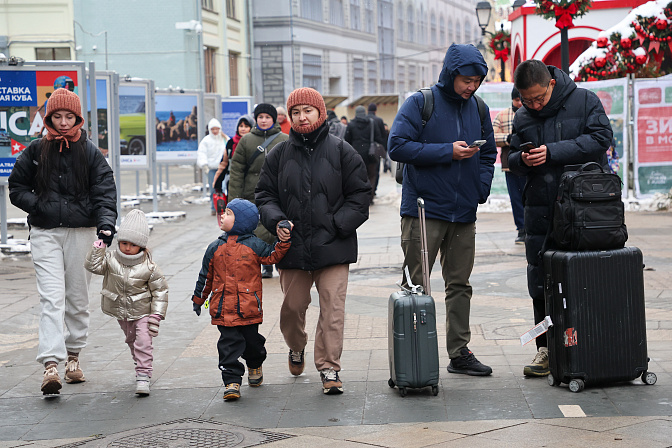
[[[663,57],[672,57],[672,1],[662,12],[664,18],[636,15],[629,35],[614,32],[598,37],[595,46],[603,50],[602,54],[584,63],[575,79],[596,81],[622,78],[629,73],[638,77],[664,75],[660,71]]]

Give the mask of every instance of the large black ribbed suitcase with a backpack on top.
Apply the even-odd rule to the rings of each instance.
[[[648,372],[642,253],[636,247],[544,253],[548,330],[548,383],[631,381]]]

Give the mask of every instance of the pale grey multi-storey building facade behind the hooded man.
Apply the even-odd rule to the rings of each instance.
[[[452,43],[481,39],[475,0],[252,1],[255,99],[273,104],[302,86],[350,105],[397,97],[436,82]]]

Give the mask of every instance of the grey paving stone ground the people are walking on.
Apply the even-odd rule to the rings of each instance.
[[[190,304],[203,252],[219,234],[209,207],[185,202],[198,193],[164,196],[160,209],[186,211],[186,218],[155,224],[150,237],[171,290],[147,398],[134,394],[133,363],[118,324],[100,311],[96,277],[89,344],[81,359],[87,381],[64,384],[57,398],[42,397],[32,261],[0,258],[0,447],[146,446],[150,439],[155,446],[672,446],[672,213],[626,217],[628,245],[642,249],[646,264],[649,369],[658,376],[656,385],[637,380],[573,394],[566,385],[552,388],[545,379],[523,377],[522,367],[535,351],[534,344],[521,347],[518,340],[533,326],[524,248],[514,244],[510,213],[479,213],[470,348],[493,367],[493,375],[449,374],[445,327],[439,325],[439,395],[420,390],[401,398],[387,385],[387,299],[398,289],[402,264],[399,191],[388,176],[381,177],[376,204],[359,232],[359,260],[351,266],[341,396],[321,393],[312,364],[316,301],[307,315],[306,372],[289,374],[276,273],[264,280],[264,385],[244,384],[240,400],[223,402],[218,332]],[[151,210],[151,204],[140,207]],[[25,229],[11,233],[27,235]],[[443,290],[440,269],[431,280],[437,298]],[[444,322],[440,296],[437,313]]]

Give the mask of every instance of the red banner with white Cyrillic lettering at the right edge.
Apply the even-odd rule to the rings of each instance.
[[[635,195],[672,188],[672,77],[635,82]]]

